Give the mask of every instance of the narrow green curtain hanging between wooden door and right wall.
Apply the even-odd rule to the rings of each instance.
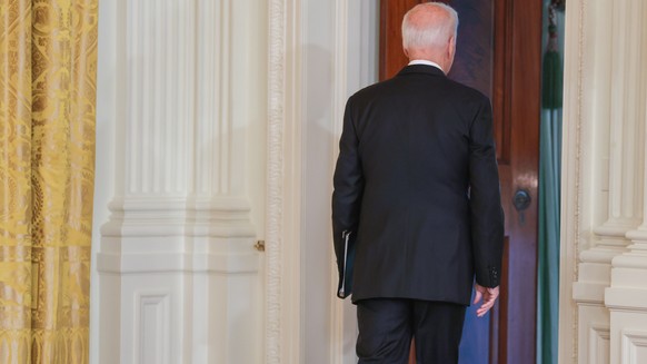
[[[563,63],[557,40],[557,9],[555,1],[548,7],[548,45],[541,86],[537,276],[539,364],[557,364],[558,351]]]

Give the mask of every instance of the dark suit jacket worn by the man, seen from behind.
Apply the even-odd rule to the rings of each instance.
[[[335,170],[332,227],[352,301],[469,304],[499,285],[504,215],[486,96],[415,65],[351,96]],[[345,233],[346,232],[346,233]],[[354,248],[345,267],[346,239]]]

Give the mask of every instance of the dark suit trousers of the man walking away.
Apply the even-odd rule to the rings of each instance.
[[[406,364],[411,337],[418,364],[456,364],[466,306],[372,298],[357,302],[359,363]]]

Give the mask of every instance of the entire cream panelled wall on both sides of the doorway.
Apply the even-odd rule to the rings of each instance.
[[[376,11],[101,1],[92,363],[354,362],[328,181]],[[647,4],[566,17],[560,363],[643,363]]]

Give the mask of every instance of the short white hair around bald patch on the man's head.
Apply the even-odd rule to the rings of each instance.
[[[444,9],[449,17],[439,23],[412,24],[410,14],[421,7]],[[424,2],[411,8],[402,19],[402,48],[429,48],[447,43],[449,38],[456,39],[458,31],[458,13],[450,6],[442,2]]]

